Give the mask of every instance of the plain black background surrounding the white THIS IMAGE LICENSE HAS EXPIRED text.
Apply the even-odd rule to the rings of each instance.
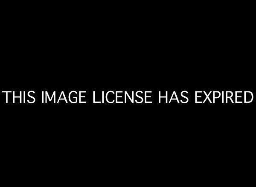
[[[255,94],[247,7],[42,7],[3,13],[1,91],[152,90],[154,104],[2,102],[5,176],[131,184],[250,178],[255,101],[196,105],[193,96]],[[157,104],[157,91],[183,90],[187,105]]]

